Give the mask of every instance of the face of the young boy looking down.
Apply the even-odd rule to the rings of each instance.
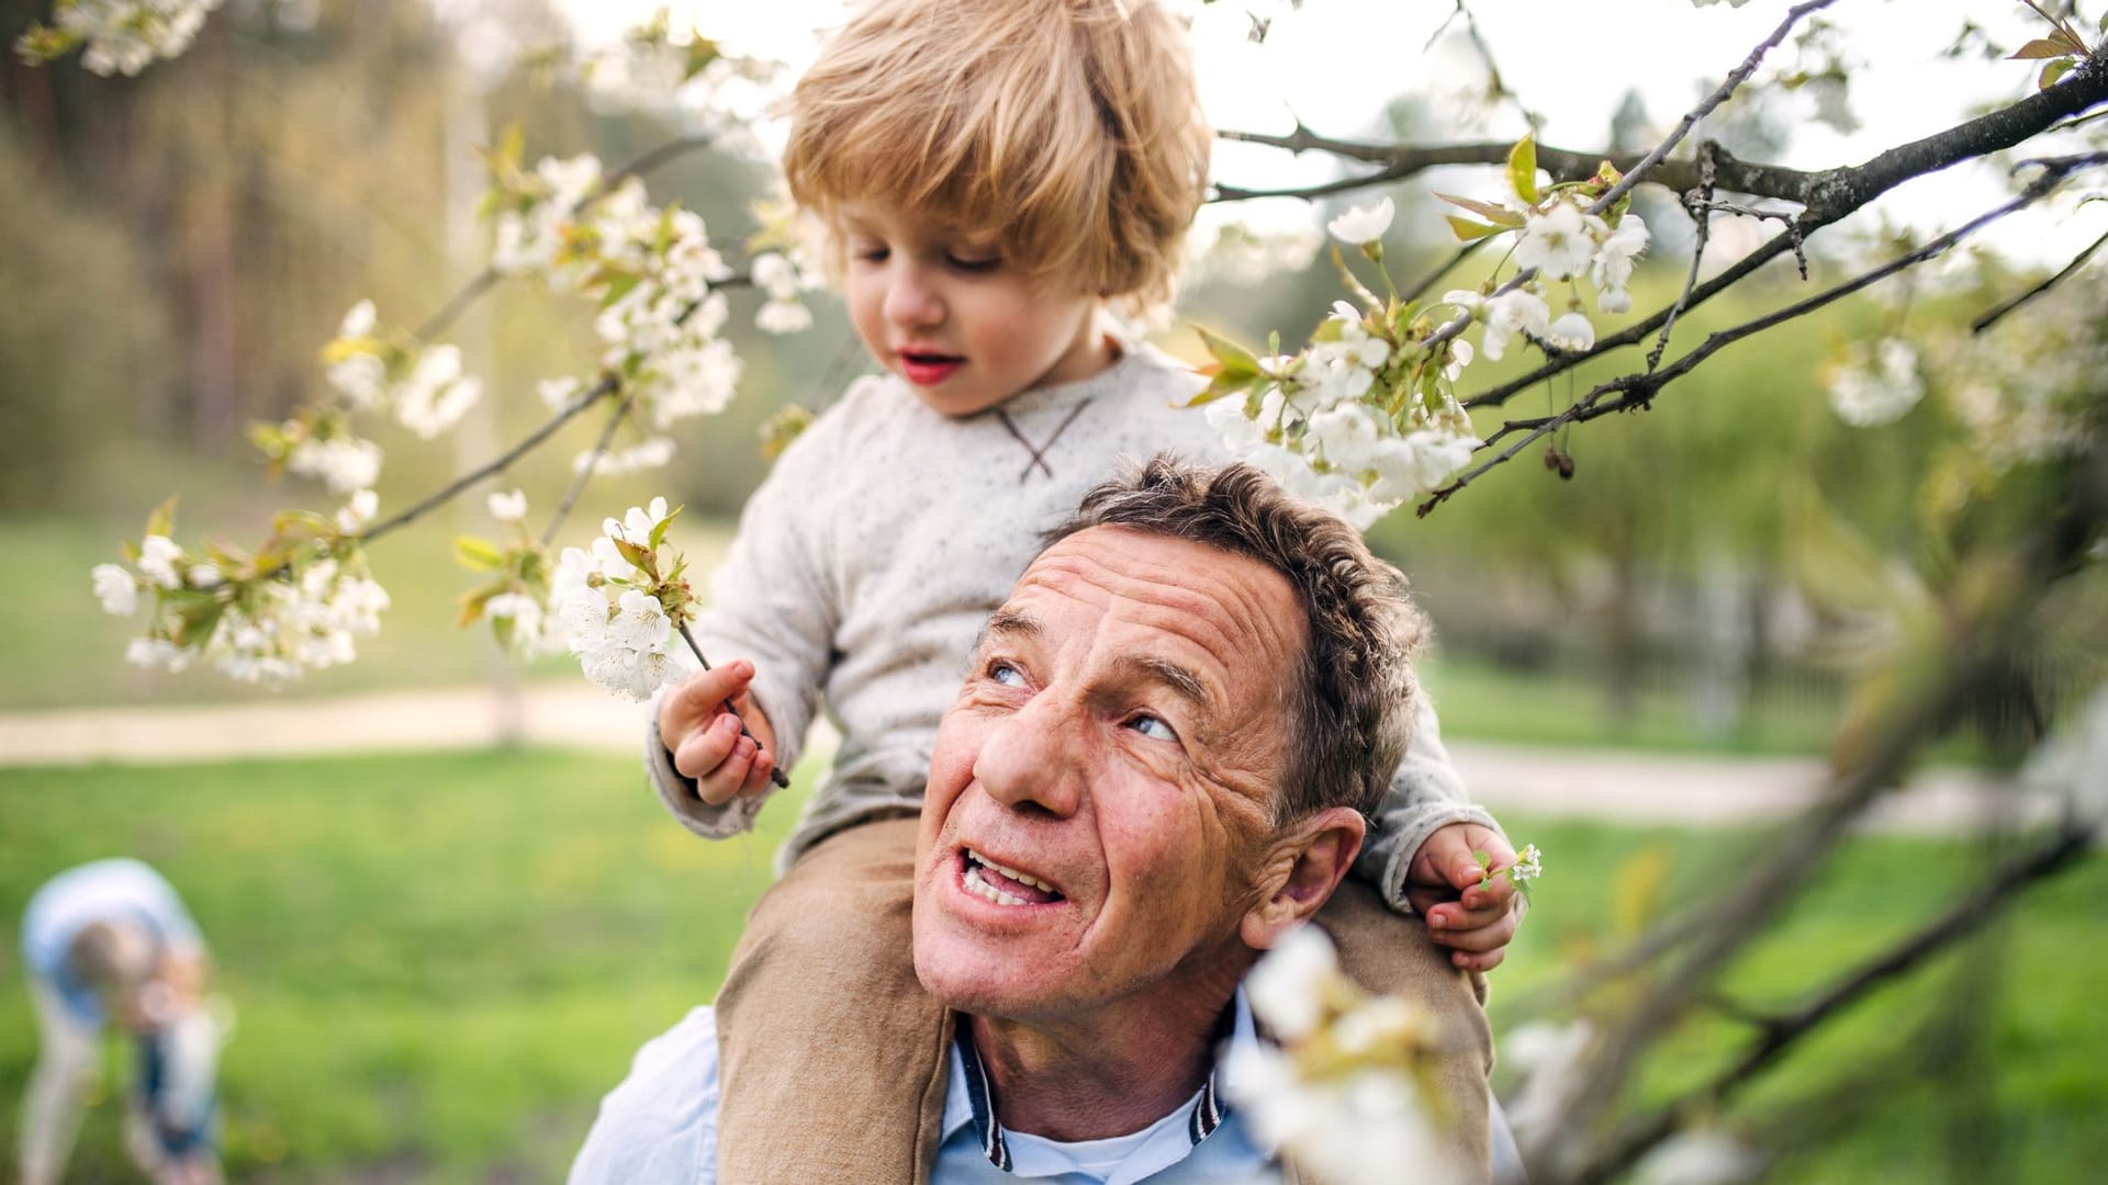
[[[841,224],[856,335],[932,409],[972,415],[1111,365],[1098,299],[1035,283],[995,234],[868,202],[843,205]]]

